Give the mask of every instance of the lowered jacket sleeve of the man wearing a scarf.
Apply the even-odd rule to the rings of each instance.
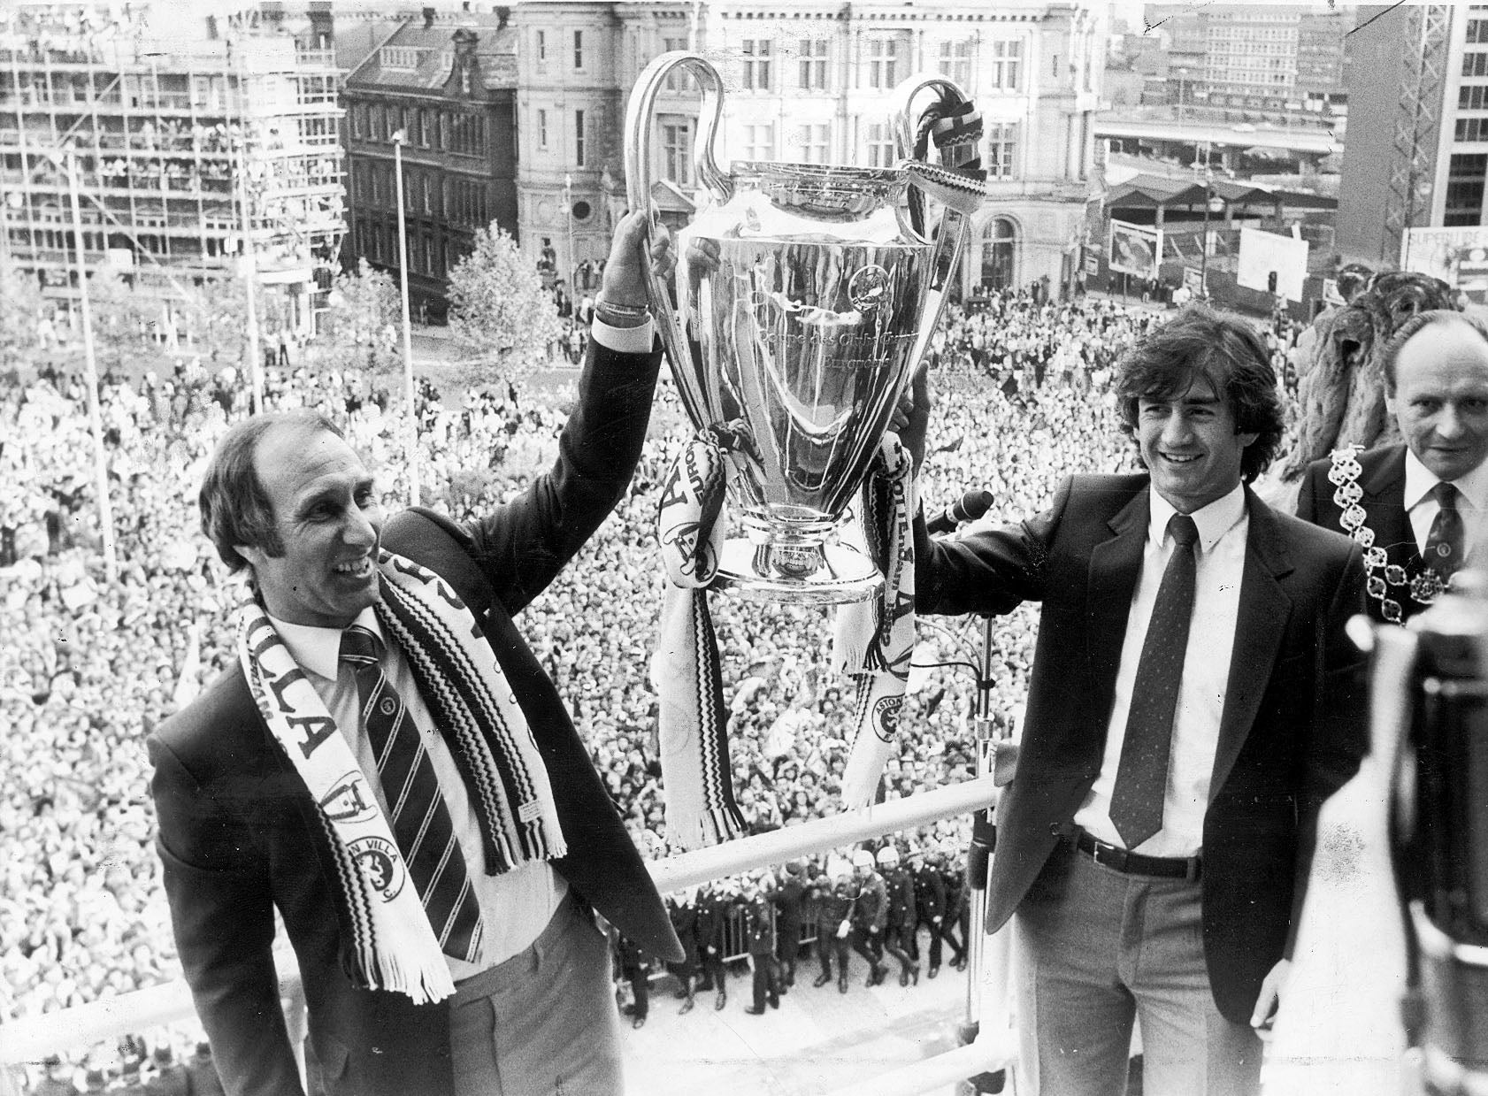
[[[251,834],[150,736],[156,848],[182,970],[229,1096],[301,1096],[274,968],[274,906]]]

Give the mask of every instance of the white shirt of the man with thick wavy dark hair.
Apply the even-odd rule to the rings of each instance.
[[[1162,573],[1174,547],[1168,537],[1168,519],[1176,513],[1173,506],[1156,491],[1150,491],[1150,510],[1141,576],[1126,616],[1126,636],[1116,672],[1101,773],[1074,812],[1077,825],[1116,846],[1125,846],[1125,842],[1112,824],[1112,791],[1120,766],[1120,747],[1126,739],[1126,715],[1131,711],[1141,645],[1147,638],[1147,622],[1152,620]],[[1193,622],[1189,625],[1183,681],[1173,715],[1173,752],[1168,758],[1168,788],[1162,799],[1162,828],[1135,849],[1149,857],[1192,857],[1204,845],[1204,812],[1208,809],[1219,723],[1229,687],[1229,659],[1240,619],[1240,580],[1245,568],[1245,537],[1250,532],[1244,488],[1237,485],[1228,495],[1190,516],[1199,531]]]

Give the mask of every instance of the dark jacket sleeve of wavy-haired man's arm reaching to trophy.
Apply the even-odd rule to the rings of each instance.
[[[1070,500],[1065,476],[1054,506],[1015,525],[934,538],[915,515],[915,611],[1010,613],[1024,601],[1043,601],[1049,546]]]

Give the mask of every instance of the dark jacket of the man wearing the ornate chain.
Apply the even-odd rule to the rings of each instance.
[[[1344,507],[1333,501],[1338,489],[1327,479],[1333,461],[1324,457],[1306,465],[1302,491],[1298,494],[1298,518],[1324,529],[1344,531]],[[1359,486],[1364,492],[1359,504],[1364,509],[1364,525],[1375,531],[1375,546],[1385,550],[1387,564],[1403,567],[1405,584],[1385,587],[1385,596],[1399,602],[1400,616],[1409,620],[1426,608],[1411,596],[1411,578],[1421,574],[1426,564],[1415,543],[1411,516],[1405,509],[1405,445],[1387,445],[1359,454]],[[1373,571],[1384,578],[1384,571]],[[1369,598],[1369,616],[1382,623],[1384,601]]]

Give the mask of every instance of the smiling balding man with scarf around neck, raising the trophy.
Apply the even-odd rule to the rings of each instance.
[[[202,528],[248,581],[240,660],[150,736],[182,967],[228,1093],[619,1092],[594,912],[680,959],[661,898],[512,617],[623,495],[659,352],[623,222],[554,468],[469,528],[384,519],[314,413],[228,431]],[[667,241],[650,262],[670,265]]]

